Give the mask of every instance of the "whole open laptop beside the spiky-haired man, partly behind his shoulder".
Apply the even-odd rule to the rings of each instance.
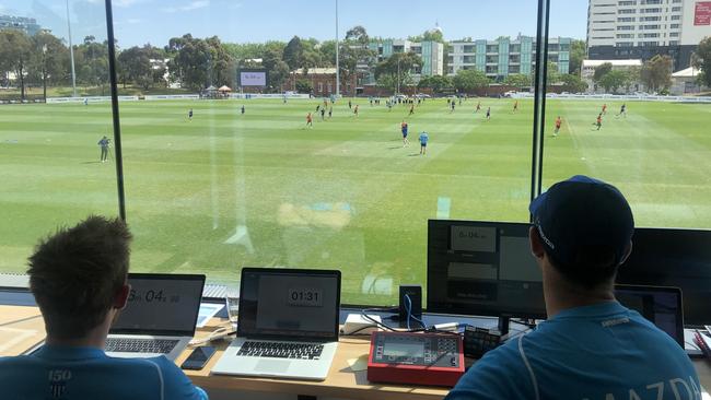
[[[195,336],[205,275],[129,273],[128,304],[108,331],[112,357],[175,360]]]

